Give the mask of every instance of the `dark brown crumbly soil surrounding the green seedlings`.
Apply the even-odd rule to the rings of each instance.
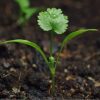
[[[31,6],[61,8],[69,16],[69,30],[54,37],[55,57],[60,41],[81,27],[100,29],[99,0],[31,0]],[[48,34],[37,25],[37,15],[20,27],[19,7],[14,0],[0,0],[0,41],[28,39],[38,43],[49,56]],[[41,38],[42,37],[42,38]],[[0,45],[0,99],[63,100],[100,99],[100,34],[88,32],[65,46],[57,66],[55,96],[50,95],[48,66],[34,49],[20,45]]]

